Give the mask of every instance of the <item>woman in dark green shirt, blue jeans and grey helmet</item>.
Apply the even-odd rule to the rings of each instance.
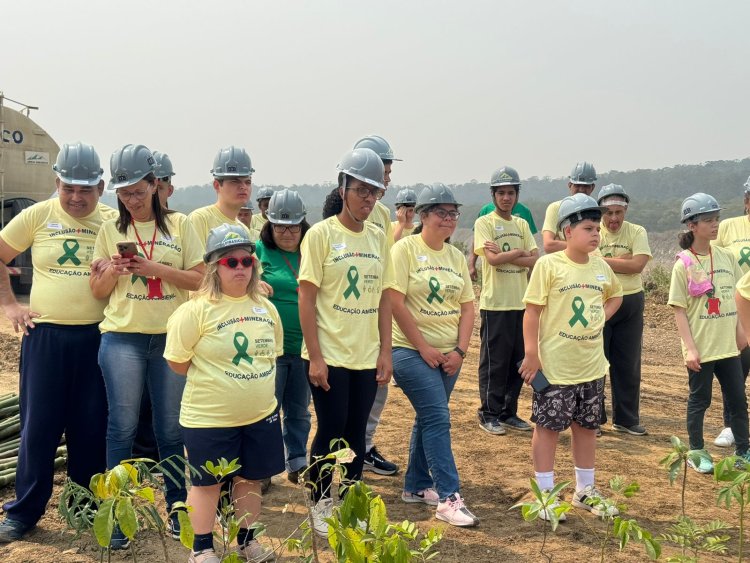
[[[300,243],[310,225],[297,192],[274,192],[266,211],[255,252],[263,267],[261,279],[271,286],[271,303],[284,326],[284,354],[276,360],[276,400],[283,411],[287,477],[297,483],[307,467],[310,434],[310,387],[302,365],[302,328],[299,324]]]

